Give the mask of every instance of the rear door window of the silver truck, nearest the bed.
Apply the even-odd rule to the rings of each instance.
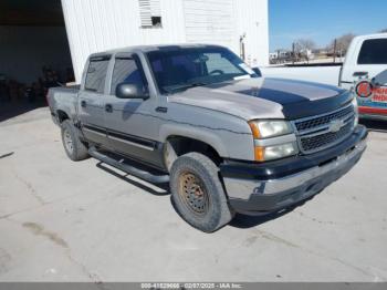
[[[87,69],[85,90],[104,93],[108,59],[91,60]]]

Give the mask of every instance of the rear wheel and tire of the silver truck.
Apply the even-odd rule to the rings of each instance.
[[[87,147],[83,144],[70,120],[61,124],[62,144],[69,158],[79,162],[88,158]]]

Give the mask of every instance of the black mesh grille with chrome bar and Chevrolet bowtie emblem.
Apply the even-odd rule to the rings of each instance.
[[[348,105],[324,115],[294,121],[301,152],[318,152],[345,139],[353,131],[354,118],[354,107]]]

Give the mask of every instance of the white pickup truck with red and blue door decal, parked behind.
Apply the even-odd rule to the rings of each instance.
[[[353,39],[343,65],[331,63],[263,68],[264,76],[320,82],[352,90],[357,95],[360,118],[387,120],[387,81],[377,87],[373,79],[387,70],[387,33]],[[368,81],[368,85],[365,83]],[[359,90],[358,90],[359,89]],[[373,91],[365,94],[364,92]],[[365,96],[366,95],[366,96]]]

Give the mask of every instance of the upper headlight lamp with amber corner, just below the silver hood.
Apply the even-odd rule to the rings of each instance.
[[[251,121],[249,123],[254,138],[269,138],[292,133],[292,126],[285,121]]]

